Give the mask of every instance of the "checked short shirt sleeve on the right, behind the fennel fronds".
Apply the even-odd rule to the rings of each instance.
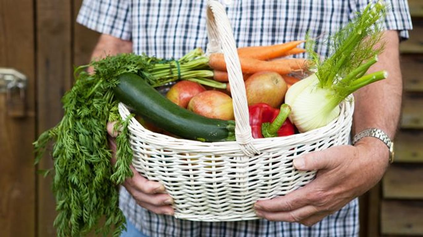
[[[372,0],[371,2],[376,2]],[[412,22],[407,0],[385,0],[387,7],[385,28],[386,30],[398,30],[402,40],[409,38],[409,30],[412,30]],[[362,10],[369,3],[369,0],[357,0],[350,17],[355,12]]]

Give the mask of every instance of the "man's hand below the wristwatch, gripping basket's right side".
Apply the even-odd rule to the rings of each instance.
[[[373,187],[387,164],[388,149],[374,137],[365,137],[355,146],[311,152],[294,159],[294,166],[318,170],[316,179],[283,197],[256,202],[256,213],[270,221],[311,226]]]

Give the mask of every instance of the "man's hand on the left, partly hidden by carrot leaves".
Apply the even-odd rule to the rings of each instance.
[[[107,124],[107,132],[109,133],[110,149],[113,152],[113,157],[115,157],[115,137],[117,134],[113,131],[113,125],[112,123]],[[115,163],[114,159],[112,162]],[[164,193],[165,187],[159,182],[150,181],[142,177],[132,165],[131,170],[133,176],[132,178],[127,178],[123,186],[134,197],[137,204],[157,214],[173,215],[171,206],[173,199],[169,194]]]

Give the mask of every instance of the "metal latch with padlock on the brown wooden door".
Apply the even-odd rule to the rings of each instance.
[[[7,112],[9,116],[25,116],[26,87],[26,75],[13,68],[0,67],[0,93],[6,93]]]

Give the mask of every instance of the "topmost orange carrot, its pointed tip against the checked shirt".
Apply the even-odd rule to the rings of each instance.
[[[260,60],[274,59],[286,55],[288,51],[303,42],[304,40],[296,40],[268,46],[243,47],[238,48],[238,55],[239,57],[248,57]]]

